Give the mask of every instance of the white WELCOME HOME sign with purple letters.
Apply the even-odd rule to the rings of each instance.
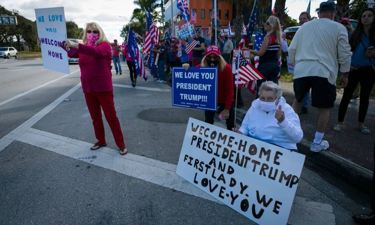
[[[39,38],[43,67],[62,73],[70,73],[68,53],[60,47],[60,44],[66,39],[66,34],[40,31]]]

